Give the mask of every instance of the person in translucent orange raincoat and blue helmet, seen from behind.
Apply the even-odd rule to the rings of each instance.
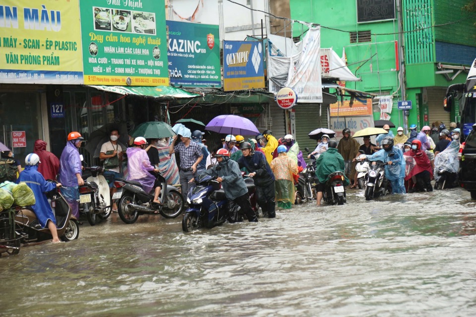
[[[286,146],[280,145],[276,149],[278,157],[273,159],[269,166],[276,178],[275,187],[278,207],[291,209],[296,200],[293,175],[297,174],[297,164],[288,157],[286,150]]]

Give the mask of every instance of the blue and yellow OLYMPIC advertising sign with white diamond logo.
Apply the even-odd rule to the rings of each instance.
[[[223,41],[225,91],[264,88],[263,43]]]

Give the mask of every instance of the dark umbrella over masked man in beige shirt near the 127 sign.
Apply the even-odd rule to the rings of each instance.
[[[94,130],[88,137],[86,146],[84,147],[86,151],[93,156],[93,158],[99,158],[99,153],[101,152],[101,146],[109,142],[111,139],[111,130],[119,131],[118,144],[122,149],[126,149],[127,146],[127,125],[125,122],[120,123],[108,123],[100,127],[99,129]]]

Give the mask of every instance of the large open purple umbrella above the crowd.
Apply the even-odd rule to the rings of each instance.
[[[256,135],[259,134],[256,126],[249,119],[234,114],[223,114],[214,117],[208,122],[205,130],[221,134]]]

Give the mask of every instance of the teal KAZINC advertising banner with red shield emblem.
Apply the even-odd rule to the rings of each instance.
[[[166,21],[170,82],[183,87],[222,86],[218,25]]]

